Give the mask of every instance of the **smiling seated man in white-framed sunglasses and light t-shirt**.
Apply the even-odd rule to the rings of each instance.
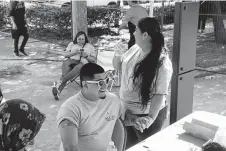
[[[106,151],[121,115],[120,100],[107,92],[109,78],[101,66],[85,64],[80,80],[81,91],[66,100],[57,114],[60,151]]]

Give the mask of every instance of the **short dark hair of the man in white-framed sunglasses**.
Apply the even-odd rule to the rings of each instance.
[[[94,74],[104,73],[104,69],[96,63],[87,63],[80,70],[80,81],[94,79]]]

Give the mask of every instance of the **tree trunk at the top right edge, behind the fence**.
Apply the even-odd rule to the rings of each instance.
[[[226,43],[226,31],[224,28],[223,16],[221,12],[220,1],[213,2],[213,7],[215,7],[213,16],[213,26],[214,26],[214,36],[215,41],[218,44]]]

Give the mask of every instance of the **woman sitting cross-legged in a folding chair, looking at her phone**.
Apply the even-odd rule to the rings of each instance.
[[[89,43],[86,33],[83,31],[78,32],[73,42],[70,42],[66,48],[64,57],[68,59],[62,64],[60,82],[54,82],[52,93],[55,100],[59,100],[60,93],[66,83],[79,75],[80,69],[84,64],[96,62],[96,55],[96,50]]]

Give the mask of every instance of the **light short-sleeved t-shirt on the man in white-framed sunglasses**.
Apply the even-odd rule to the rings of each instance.
[[[105,99],[92,102],[79,92],[62,104],[57,125],[67,119],[78,127],[80,151],[106,151],[120,115],[121,104],[116,95],[107,93]]]

